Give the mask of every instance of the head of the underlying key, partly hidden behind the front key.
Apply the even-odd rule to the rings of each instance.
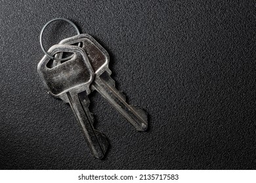
[[[104,71],[107,71],[111,75],[111,71],[108,69],[108,63],[110,62],[110,56],[108,52],[95,40],[91,35],[80,34],[75,35],[67,39],[63,39],[59,44],[77,44],[81,42],[81,48],[85,50],[95,75],[101,75]],[[58,55],[61,58],[61,54]],[[54,65],[60,64],[59,61],[54,61]]]

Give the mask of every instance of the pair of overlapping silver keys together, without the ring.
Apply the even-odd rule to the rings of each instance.
[[[78,44],[78,46],[74,46]],[[95,158],[102,159],[108,148],[108,141],[93,127],[93,114],[89,111],[88,95],[92,91],[116,108],[137,131],[145,131],[148,126],[146,112],[140,107],[125,102],[125,95],[115,88],[108,68],[108,52],[87,34],[80,34],[62,40],[47,52],[59,59],[45,55],[37,66],[37,71],[48,93],[69,103],[83,135]],[[64,53],[71,53],[67,61],[59,61]],[[53,63],[51,63],[53,61]]]

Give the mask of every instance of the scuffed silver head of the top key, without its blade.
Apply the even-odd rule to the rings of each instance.
[[[66,92],[80,93],[86,91],[89,94],[89,86],[93,82],[94,73],[83,49],[77,46],[56,44],[48,51],[52,56],[59,52],[70,52],[74,56],[53,68],[49,68],[47,64],[51,58],[44,56],[37,65],[37,71],[45,88],[51,95],[61,99]]]

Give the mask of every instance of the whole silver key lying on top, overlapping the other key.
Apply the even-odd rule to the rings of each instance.
[[[90,101],[87,95],[91,92],[90,84],[95,74],[86,53],[78,46],[58,44],[52,46],[48,52],[51,55],[58,52],[74,54],[72,59],[53,68],[49,68],[51,59],[44,56],[37,71],[48,93],[70,104],[93,156],[103,158],[108,141],[100,131],[94,129],[93,115],[89,112]]]

